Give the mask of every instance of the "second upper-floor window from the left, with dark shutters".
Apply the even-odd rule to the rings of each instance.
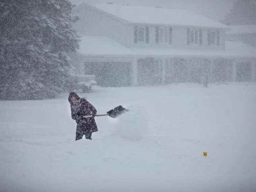
[[[172,42],[172,28],[171,27],[156,27],[156,43]]]

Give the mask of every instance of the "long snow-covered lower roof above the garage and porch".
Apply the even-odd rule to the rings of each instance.
[[[226,41],[225,50],[128,48],[105,36],[83,36],[78,53],[87,56],[256,57],[256,48],[236,41]]]

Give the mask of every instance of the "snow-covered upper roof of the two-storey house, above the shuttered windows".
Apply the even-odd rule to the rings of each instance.
[[[121,4],[85,4],[130,23],[197,26],[229,29],[227,25],[187,10],[162,7],[130,6]]]

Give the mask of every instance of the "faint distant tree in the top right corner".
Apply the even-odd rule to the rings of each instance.
[[[227,25],[256,25],[256,1],[237,0],[222,22]]]

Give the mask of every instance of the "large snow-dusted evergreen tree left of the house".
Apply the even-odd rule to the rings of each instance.
[[[67,0],[0,0],[0,99],[43,99],[65,91],[78,17]]]

